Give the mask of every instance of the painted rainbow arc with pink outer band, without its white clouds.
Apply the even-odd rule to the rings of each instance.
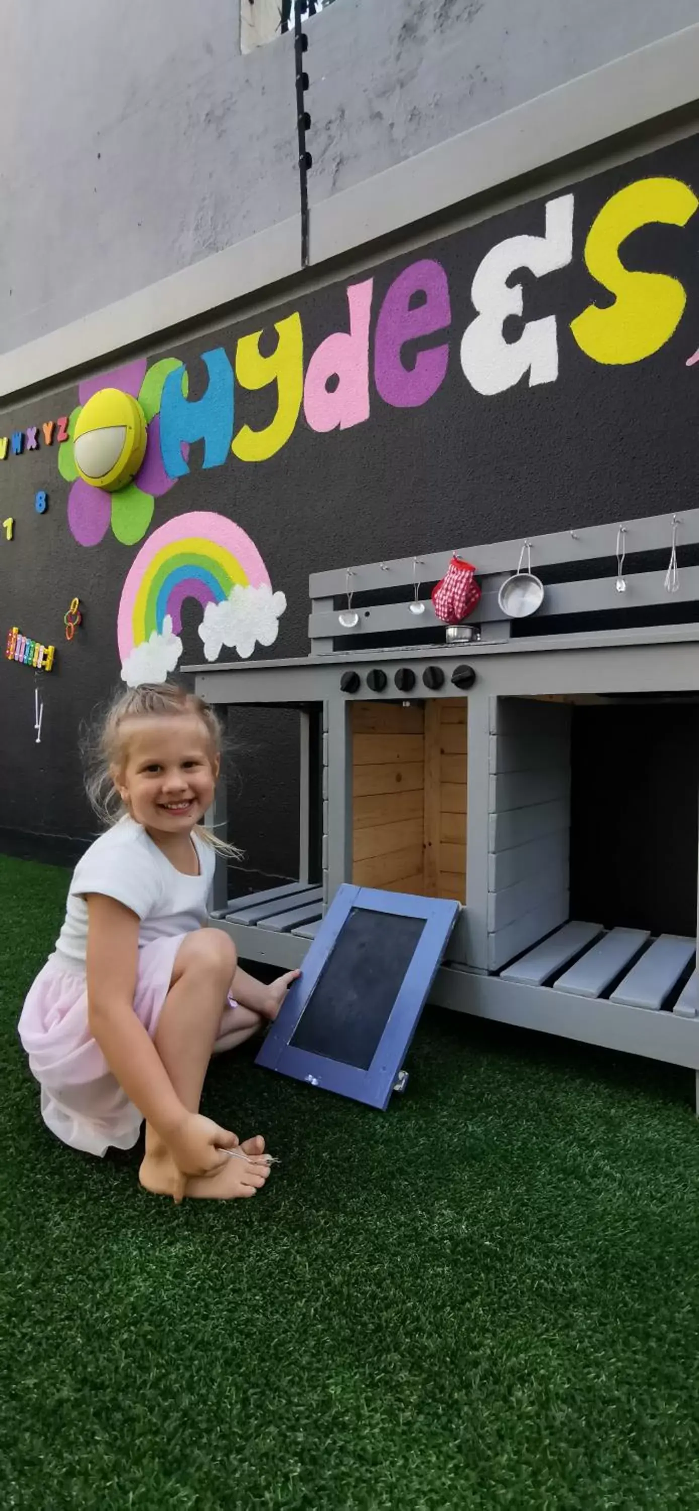
[[[236,583],[270,585],[267,568],[249,535],[222,514],[196,511],[168,520],[148,536],[124,583],[116,633],[121,662],[136,645],[160,635],[165,616],[181,630],[183,603],[222,603]]]

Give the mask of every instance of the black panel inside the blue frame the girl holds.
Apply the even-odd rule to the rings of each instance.
[[[290,1040],[368,1070],[426,919],[352,908]]]

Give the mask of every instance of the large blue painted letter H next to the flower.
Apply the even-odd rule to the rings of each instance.
[[[202,467],[220,467],[232,435],[232,367],[222,346],[202,352],[208,387],[201,399],[184,396],[184,367],[168,373],[160,399],[160,450],[169,477],[184,477],[183,446],[204,441]]]

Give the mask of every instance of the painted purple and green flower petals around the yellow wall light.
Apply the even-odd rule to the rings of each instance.
[[[168,493],[177,477],[168,477],[160,456],[160,399],[168,373],[181,367],[175,357],[165,357],[148,367],[145,358],[127,363],[109,373],[98,373],[86,378],[79,385],[80,403],[72,411],[68,423],[68,440],[59,447],[59,471],[66,482],[72,484],[68,494],[68,526],[79,545],[98,545],[112,524],[112,533],[122,545],[134,545],[143,539],[152,520],[156,499]],[[121,388],[137,399],[143,411],[148,440],[145,456],[133,482],[118,493],[107,493],[104,488],[94,488],[83,482],[75,467],[72,437],[77,417],[88,399],[103,388]],[[186,391],[186,382],[183,384]],[[183,449],[184,450],[184,449]]]

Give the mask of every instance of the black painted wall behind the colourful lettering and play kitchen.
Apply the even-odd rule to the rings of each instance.
[[[648,225],[624,248],[628,267],[672,273],[687,290],[679,326],[657,355],[633,366],[602,366],[578,349],[569,331],[571,319],[592,299],[611,302],[583,261],[592,221],[614,190],[654,174],[699,189],[699,142],[688,139],[575,186],[572,263],[540,280],[522,275],[525,317],[557,316],[556,382],[530,388],[522,378],[509,391],[485,397],[470,387],[459,363],[460,335],[474,313],[474,272],[503,239],[542,234],[545,201],[539,199],[376,269],[371,329],[386,289],[418,255],[436,257],[448,277],[450,329],[418,343],[447,340],[448,369],[421,408],[386,405],[371,379],[365,423],[323,435],[299,417],[290,441],[266,462],[229,456],[225,465],[202,470],[201,447],[192,449],[192,471],[156,503],[154,526],[190,509],[213,509],[254,538],[273,586],[288,598],[279,639],[261,654],[305,654],[314,570],[696,506],[699,367],[685,366],[699,345],[694,222],[684,230]],[[269,323],[293,310],[300,311],[308,361],[329,332],[347,326],[346,283],[272,310]],[[205,381],[202,351],[220,345],[232,360],[237,337],[258,328],[255,319],[177,343],[175,355],[190,364],[193,397]],[[506,335],[518,338],[515,319]],[[411,351],[405,360],[412,360]],[[24,403],[3,417],[0,435],[54,419],[75,402],[71,387]],[[243,422],[263,426],[272,411],[270,391],[239,388],[236,431]],[[38,488],[50,497],[44,515],[33,509]],[[0,536],[3,623],[57,645],[56,669],[39,678],[41,745],[33,734],[33,674],[0,660],[0,828],[80,840],[92,825],[75,754],[79,725],[118,680],[116,610],[139,547],[124,547],[109,533],[94,548],[79,545],[66,527],[66,496],[54,447],[0,462],[0,518],[12,514],[17,520],[14,541]],[[85,604],[85,623],[66,645],[62,616],[74,594]],[[183,663],[202,659],[198,623],[199,610],[189,604]],[[294,763],[288,721],[279,734],[270,734],[269,724],[249,718],[236,728],[243,749],[234,834],[252,869],[288,873],[296,864]]]

